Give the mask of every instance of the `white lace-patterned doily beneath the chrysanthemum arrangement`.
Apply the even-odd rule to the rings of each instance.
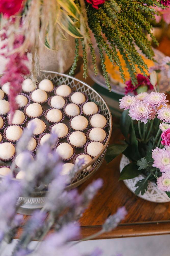
[[[120,172],[122,172],[123,168],[129,164],[129,159],[126,156],[122,156],[121,161],[120,161]],[[145,177],[142,176],[141,174],[133,179],[125,179],[123,182],[125,183],[126,187],[130,189],[135,194],[136,190],[136,183],[140,179],[144,179]],[[148,190],[144,195],[140,194],[138,195],[139,197],[150,201],[150,202],[156,202],[156,203],[166,203],[170,201],[170,198],[166,195],[166,193],[160,189],[158,189],[157,185],[154,182],[148,182]]]

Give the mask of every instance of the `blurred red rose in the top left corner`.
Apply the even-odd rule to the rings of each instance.
[[[22,10],[23,0],[0,0],[0,13],[7,18]]]

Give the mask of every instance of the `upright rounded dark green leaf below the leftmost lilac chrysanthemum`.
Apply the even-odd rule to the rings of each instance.
[[[126,138],[128,138],[130,124],[131,124],[131,117],[129,116],[129,110],[126,109],[123,111],[120,118],[120,130]]]

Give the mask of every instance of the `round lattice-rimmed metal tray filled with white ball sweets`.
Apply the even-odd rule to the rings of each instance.
[[[0,176],[22,179],[22,153],[16,156],[15,145],[23,133],[34,124],[28,144],[28,157],[34,161],[36,150],[52,133],[58,141],[53,150],[63,159],[61,175],[67,175],[75,163],[84,158],[82,168],[67,188],[79,186],[101,165],[111,136],[112,117],[107,103],[88,84],[65,74],[41,71],[34,89],[32,80],[22,83],[22,92],[16,97],[16,110],[11,125],[9,113],[9,83],[0,89]],[[15,170],[10,170],[15,163]]]

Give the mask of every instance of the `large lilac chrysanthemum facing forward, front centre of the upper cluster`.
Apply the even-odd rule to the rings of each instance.
[[[148,122],[148,119],[152,117],[152,108],[149,106],[149,103],[145,104],[142,101],[136,103],[134,106],[130,107],[129,115],[133,120],[140,120],[145,124]]]

